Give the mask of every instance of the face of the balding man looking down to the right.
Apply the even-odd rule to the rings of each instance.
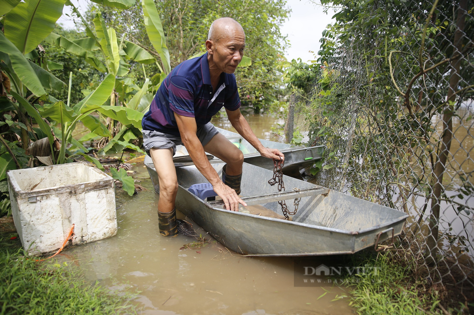
[[[237,27],[229,27],[212,46],[212,58],[218,69],[234,73],[244,56],[245,34]]]

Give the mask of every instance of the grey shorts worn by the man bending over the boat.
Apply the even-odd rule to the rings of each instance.
[[[201,144],[205,146],[209,141],[218,134],[216,127],[211,122],[206,123],[204,126],[198,127],[196,135],[201,141]],[[150,149],[169,149],[173,148],[173,155],[176,153],[176,146],[182,145],[181,137],[174,136],[168,133],[160,131],[143,131],[143,148],[147,155],[150,155]]]

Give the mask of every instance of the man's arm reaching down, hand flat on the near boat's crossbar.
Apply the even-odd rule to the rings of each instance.
[[[235,190],[222,182],[216,170],[210,165],[206,157],[201,141],[196,135],[197,125],[194,117],[186,117],[174,113],[174,118],[178,124],[178,129],[181,134],[183,145],[189,152],[189,155],[204,177],[212,184],[214,192],[216,192],[222,201],[224,201],[227,210],[238,211],[238,204],[241,203],[244,207],[247,204],[237,196]]]

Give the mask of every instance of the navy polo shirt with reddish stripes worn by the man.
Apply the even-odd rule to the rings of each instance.
[[[240,107],[234,74],[220,75],[216,92],[210,83],[208,54],[183,61],[163,80],[143,116],[142,128],[179,136],[174,113],[194,117],[198,128],[210,122],[224,106],[230,111]]]

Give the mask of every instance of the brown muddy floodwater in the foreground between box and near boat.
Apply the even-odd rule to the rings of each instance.
[[[270,124],[266,119],[267,128],[279,123],[276,118]],[[249,121],[251,126],[255,122]],[[261,128],[255,133],[270,138],[271,131]],[[134,177],[141,180],[137,184],[146,191],[129,197],[116,189],[118,234],[73,247],[60,258],[85,269],[91,283],[98,280],[118,294],[125,289],[140,291],[134,301],[142,307],[140,314],[353,314],[347,297],[332,301],[347,295],[344,288],[295,287],[294,258],[239,256],[210,236],[204,236],[211,241],[204,247],[183,249],[196,240],[160,236],[159,195],[145,166],[137,164],[134,170]],[[178,212],[178,218],[184,216]],[[198,233],[205,231],[198,229]]]

